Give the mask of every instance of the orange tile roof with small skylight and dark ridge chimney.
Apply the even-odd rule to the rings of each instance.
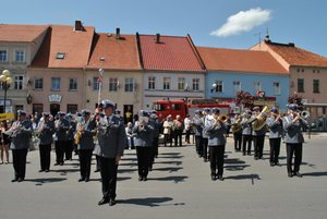
[[[84,32],[74,32],[74,26],[51,25],[31,66],[85,68],[95,29],[84,28]],[[57,59],[58,52],[64,53],[64,59]]]

